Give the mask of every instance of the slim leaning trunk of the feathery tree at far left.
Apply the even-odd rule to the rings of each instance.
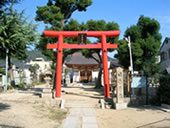
[[[12,64],[11,64],[11,58],[9,56],[9,59],[8,59],[8,66],[9,66],[9,75],[10,75],[10,84],[12,87],[16,87],[15,85],[15,77],[14,77],[14,72],[13,72],[13,69],[12,69]]]

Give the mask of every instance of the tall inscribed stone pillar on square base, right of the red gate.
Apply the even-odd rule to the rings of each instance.
[[[116,68],[116,109],[127,108],[127,103],[124,102],[124,87],[123,87],[123,69],[121,67]]]

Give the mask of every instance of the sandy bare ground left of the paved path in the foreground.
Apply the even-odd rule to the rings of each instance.
[[[0,93],[0,128],[57,128],[61,124],[67,111],[42,105],[34,92]]]

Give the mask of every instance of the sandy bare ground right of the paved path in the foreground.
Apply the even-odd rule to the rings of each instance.
[[[170,113],[153,107],[96,110],[99,128],[170,128]]]

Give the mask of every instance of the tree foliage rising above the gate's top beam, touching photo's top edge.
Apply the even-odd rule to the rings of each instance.
[[[64,24],[77,11],[86,11],[92,0],[48,0],[46,6],[37,7],[37,21],[50,24],[55,30],[63,30]]]

